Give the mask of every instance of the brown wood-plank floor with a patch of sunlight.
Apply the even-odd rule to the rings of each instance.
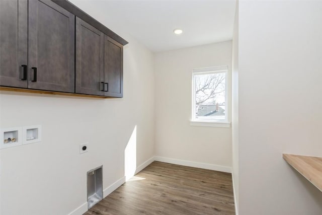
[[[235,214],[231,174],[153,162],[85,214]]]

